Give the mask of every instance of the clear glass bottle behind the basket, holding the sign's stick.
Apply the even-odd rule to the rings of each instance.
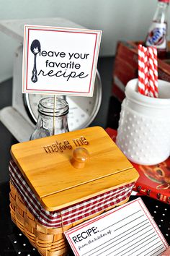
[[[42,98],[38,104],[37,124],[30,140],[69,132],[67,114],[68,103],[62,98]]]

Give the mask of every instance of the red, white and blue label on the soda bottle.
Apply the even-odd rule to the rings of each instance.
[[[146,38],[146,46],[156,46],[160,50],[166,49],[166,33],[166,23],[153,22]]]

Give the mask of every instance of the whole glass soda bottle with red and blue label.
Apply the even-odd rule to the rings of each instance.
[[[170,0],[158,0],[153,22],[148,30],[146,46],[156,46],[158,58],[166,58],[167,51],[167,14]]]

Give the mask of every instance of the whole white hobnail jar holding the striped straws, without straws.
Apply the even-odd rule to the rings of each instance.
[[[125,88],[117,146],[134,163],[161,163],[170,155],[170,82],[158,80],[158,98],[141,95],[137,89],[138,79]]]

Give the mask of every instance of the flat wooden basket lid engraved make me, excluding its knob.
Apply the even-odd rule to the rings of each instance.
[[[89,159],[75,168],[73,152]],[[138,172],[101,127],[12,145],[12,158],[46,210],[59,210],[138,179]],[[85,155],[86,156],[86,155]],[[84,158],[81,159],[84,161]]]

